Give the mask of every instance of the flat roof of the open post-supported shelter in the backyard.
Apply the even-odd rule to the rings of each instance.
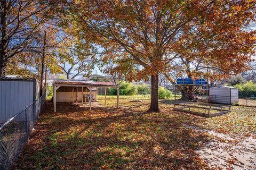
[[[62,85],[89,85],[89,86],[115,86],[112,82],[105,81],[93,81],[93,80],[74,80],[74,79],[59,79],[54,80],[54,84],[62,84]]]

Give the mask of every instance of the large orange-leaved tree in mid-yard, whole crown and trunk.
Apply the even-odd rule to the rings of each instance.
[[[205,67],[220,68],[220,77],[242,71],[239,68],[246,67],[253,54],[255,32],[245,28],[255,20],[255,1],[68,3],[66,19],[75,21],[79,36],[105,49],[103,61],[119,61],[124,66],[117,66],[116,70],[127,72],[128,80],[151,77],[149,112],[159,111],[159,73],[175,69],[172,62],[177,58],[204,60]],[[117,51],[123,55],[116,56]],[[198,76],[200,72],[192,74]]]

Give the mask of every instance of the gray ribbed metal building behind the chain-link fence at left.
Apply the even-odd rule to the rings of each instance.
[[[32,104],[39,97],[36,79],[0,78],[0,124]]]

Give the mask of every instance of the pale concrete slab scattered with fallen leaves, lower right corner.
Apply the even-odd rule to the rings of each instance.
[[[205,146],[195,150],[210,167],[222,169],[256,169],[256,139],[249,137],[238,143],[222,142],[237,140],[229,135],[204,130],[196,126],[184,125],[186,128],[196,130],[198,133],[207,132],[218,139],[209,140]]]

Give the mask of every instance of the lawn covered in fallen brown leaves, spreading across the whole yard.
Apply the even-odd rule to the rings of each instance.
[[[255,132],[252,107],[203,118],[172,112],[173,100],[161,100],[162,112],[150,114],[145,113],[150,100],[129,100],[121,97],[120,109],[93,111],[60,103],[57,113],[46,103],[14,169],[207,169],[193,150],[213,137],[184,124],[236,136]],[[116,98],[108,96],[107,105],[114,107]]]

